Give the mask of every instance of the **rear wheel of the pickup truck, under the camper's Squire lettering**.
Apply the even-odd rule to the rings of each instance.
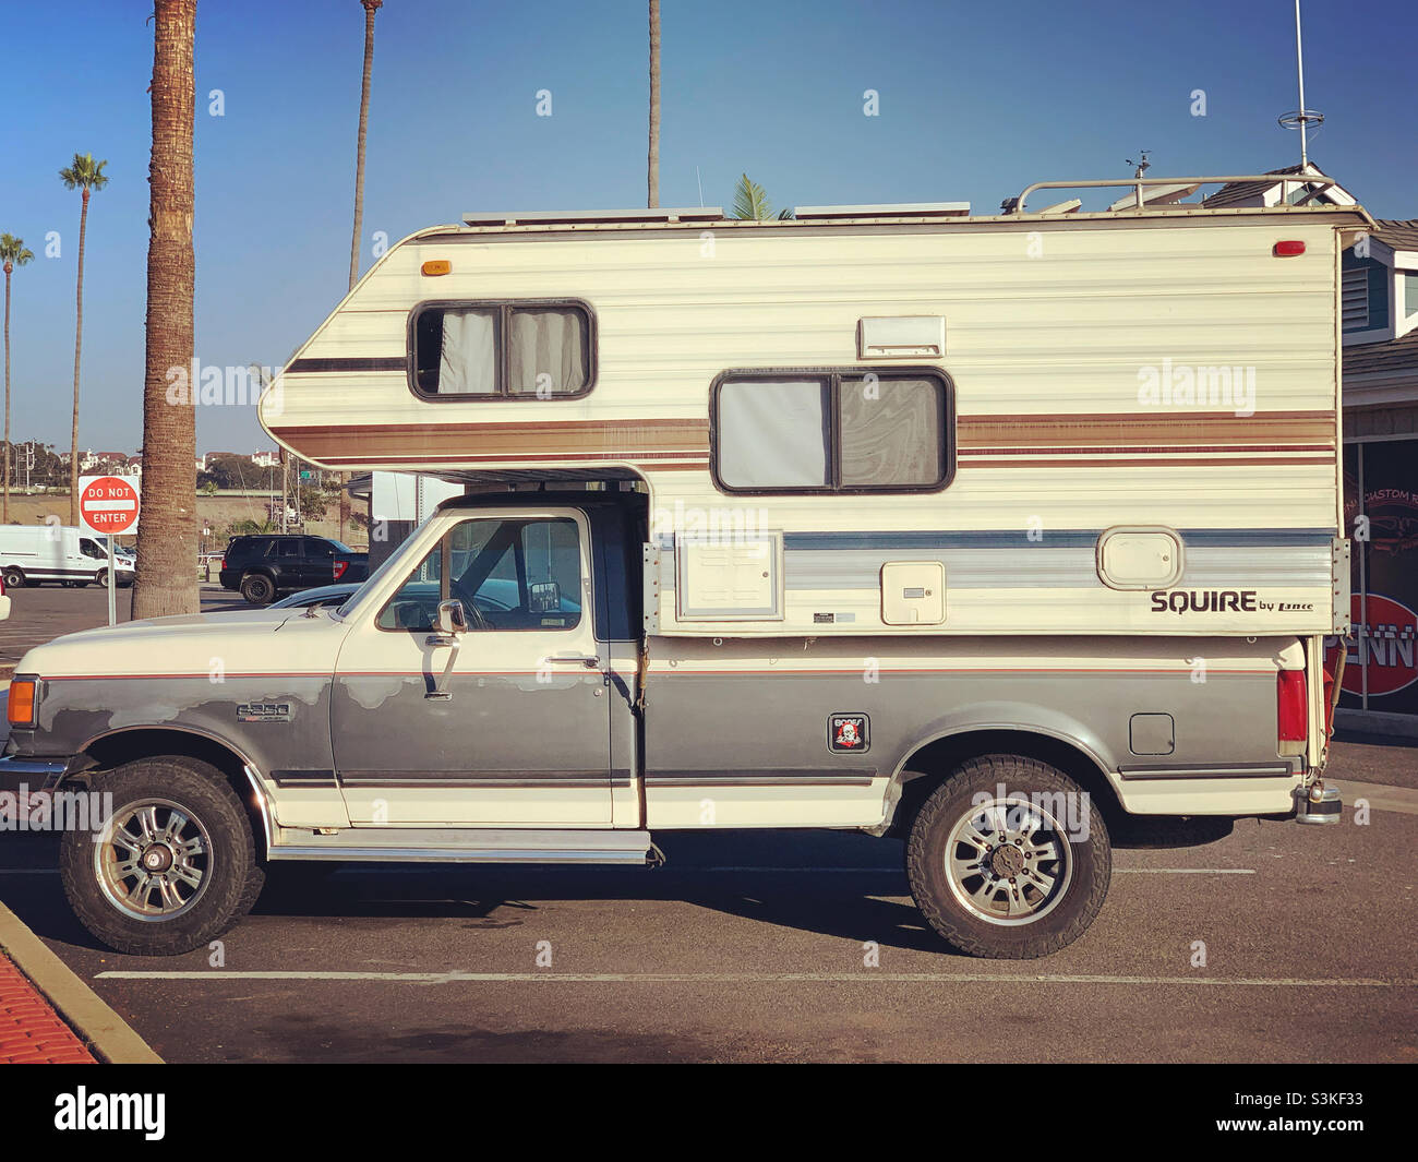
[[[1059,800],[1055,797],[1059,795],[1066,797]],[[1015,820],[1025,827],[1042,820],[1045,827],[1035,830],[1035,836],[1042,836],[1051,823],[1061,824],[1062,843],[1038,847],[1032,839],[1028,847],[1022,839],[1001,843],[1010,834],[1008,827],[981,827],[974,834],[988,841],[980,846],[957,840],[953,846],[961,871],[947,871],[951,834],[967,827],[983,803],[1001,799],[1007,823]],[[1085,821],[1086,829],[1078,826]],[[1075,824],[1072,830],[1069,824]],[[1056,853],[1055,858],[1046,857],[1049,850]],[[974,863],[970,853],[978,856]],[[1031,863],[1035,857],[1041,861]],[[976,864],[980,874],[964,873],[963,868]],[[1017,755],[983,755],[961,763],[922,804],[906,841],[906,875],[922,915],[954,948],[993,959],[1048,956],[1082,936],[1103,907],[1112,865],[1107,827],[1092,796],[1048,763]],[[1011,877],[1011,871],[1021,874]],[[986,892],[986,900],[977,892]],[[1020,911],[1011,917],[1014,897]]]

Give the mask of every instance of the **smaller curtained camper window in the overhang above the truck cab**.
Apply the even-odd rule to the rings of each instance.
[[[567,399],[591,390],[594,323],[581,302],[425,302],[408,328],[425,399]]]

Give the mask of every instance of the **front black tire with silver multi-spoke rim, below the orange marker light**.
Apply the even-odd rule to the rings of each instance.
[[[145,918],[121,907],[111,895],[122,848],[108,840],[95,843],[89,830],[64,831],[60,841],[64,894],[79,924],[95,938],[119,952],[176,956],[204,948],[251,911],[261,894],[264,874],[257,861],[251,820],[220,770],[180,756],[138,759],[96,775],[89,790],[99,796],[112,795],[111,826],[123,824],[125,814],[136,804],[157,800],[183,813],[190,821],[186,834],[200,831],[203,839],[210,840],[206,858],[199,857],[203,864],[200,885],[190,892],[186,904],[172,917]],[[167,807],[159,806],[156,812],[159,827],[172,823]],[[126,824],[125,830],[135,826]],[[128,834],[136,836],[132,830]],[[147,850],[152,847],[162,844],[152,844]],[[126,887],[126,882],[119,887]],[[182,892],[186,887],[183,881],[174,890]],[[152,891],[159,892],[162,902],[160,887],[145,894],[143,902],[150,902]]]

